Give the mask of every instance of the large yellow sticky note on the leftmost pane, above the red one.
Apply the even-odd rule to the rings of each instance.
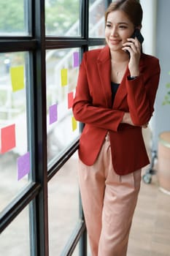
[[[18,91],[24,88],[23,66],[10,68],[12,91]]]

